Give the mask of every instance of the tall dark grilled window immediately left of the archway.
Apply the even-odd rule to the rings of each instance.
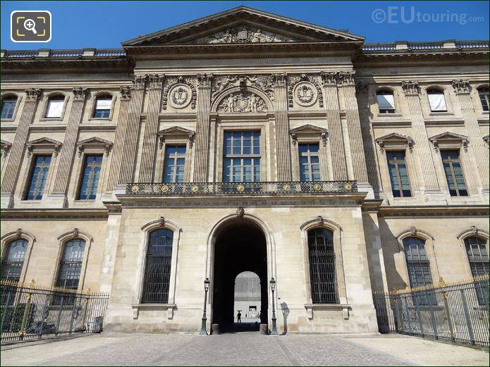
[[[169,302],[172,244],[173,232],[171,230],[154,230],[149,234],[142,304]]]

